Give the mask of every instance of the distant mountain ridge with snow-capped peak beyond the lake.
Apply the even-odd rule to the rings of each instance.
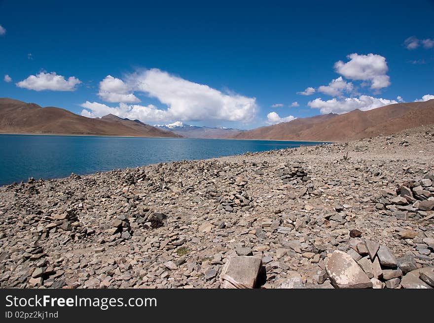
[[[182,123],[181,121],[174,122],[168,125],[154,125],[154,127],[170,130],[183,137],[187,138],[216,138],[226,139],[238,135],[244,130],[232,128],[211,128],[211,127],[198,127]]]

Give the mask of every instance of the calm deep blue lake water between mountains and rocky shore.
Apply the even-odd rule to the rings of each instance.
[[[0,134],[0,185],[320,143]]]

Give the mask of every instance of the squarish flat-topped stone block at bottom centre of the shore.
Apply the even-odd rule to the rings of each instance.
[[[252,256],[229,258],[221,269],[220,288],[254,288],[261,259]]]

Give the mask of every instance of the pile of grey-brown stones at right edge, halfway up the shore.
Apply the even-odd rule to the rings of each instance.
[[[416,178],[396,189],[381,190],[376,208],[399,220],[434,218],[434,174]]]

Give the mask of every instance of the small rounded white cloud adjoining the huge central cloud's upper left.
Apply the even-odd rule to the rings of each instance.
[[[121,79],[107,75],[100,82],[100,91],[98,96],[107,102],[140,102],[140,99],[130,92],[130,88]]]

